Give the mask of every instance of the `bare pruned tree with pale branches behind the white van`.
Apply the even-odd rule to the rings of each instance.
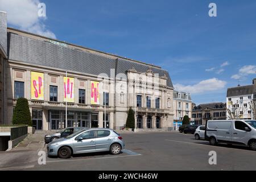
[[[233,102],[230,101],[229,107],[227,106],[225,107],[226,107],[226,110],[228,111],[229,119],[240,119],[246,110],[246,107],[242,107],[242,104],[239,104],[238,101],[235,104],[233,104]]]

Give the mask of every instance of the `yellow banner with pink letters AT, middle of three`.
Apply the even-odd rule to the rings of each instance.
[[[74,89],[75,81],[74,78],[64,77],[64,102],[75,102]]]

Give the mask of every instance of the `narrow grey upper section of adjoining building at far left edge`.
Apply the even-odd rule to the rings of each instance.
[[[0,11],[0,53],[7,57],[7,15]]]

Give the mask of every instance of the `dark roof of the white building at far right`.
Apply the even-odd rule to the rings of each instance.
[[[226,97],[244,96],[256,93],[256,85],[237,86],[228,88]]]

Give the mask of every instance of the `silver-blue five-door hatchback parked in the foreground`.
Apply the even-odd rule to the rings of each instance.
[[[66,138],[60,138],[48,144],[48,156],[67,159],[72,154],[110,151],[120,154],[125,148],[122,137],[111,129],[85,129]]]

